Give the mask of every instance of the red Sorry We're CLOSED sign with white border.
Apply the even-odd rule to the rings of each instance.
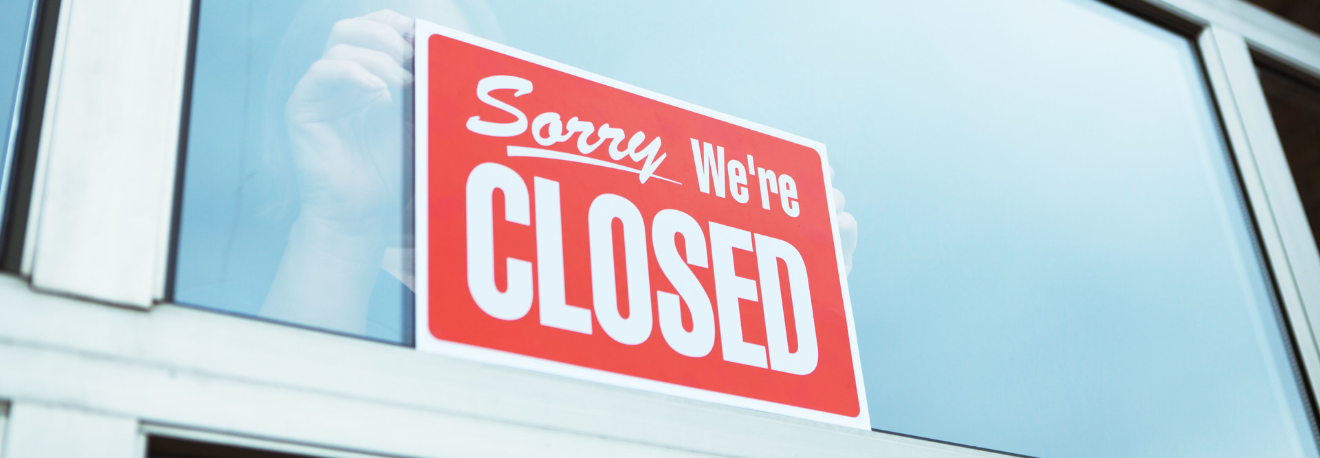
[[[870,428],[822,145],[416,42],[418,348]]]

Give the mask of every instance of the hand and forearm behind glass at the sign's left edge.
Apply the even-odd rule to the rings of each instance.
[[[404,210],[413,20],[392,11],[335,22],[284,107],[298,218],[261,315],[350,334],[367,309]]]

